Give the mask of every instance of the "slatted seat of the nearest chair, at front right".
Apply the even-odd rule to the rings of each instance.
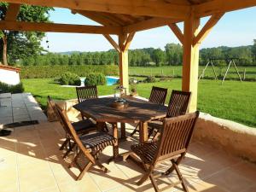
[[[137,154],[145,164],[150,164],[154,160],[157,152],[158,142],[147,142],[131,145],[131,150]]]

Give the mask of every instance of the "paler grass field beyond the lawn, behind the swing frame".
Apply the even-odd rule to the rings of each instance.
[[[201,75],[204,66],[199,67],[199,75]],[[246,69],[246,79],[247,80],[256,80],[256,67],[238,67],[238,71],[243,78],[243,72]],[[218,76],[224,77],[226,67],[220,69],[215,67],[215,71]],[[130,75],[158,75],[158,76],[172,76],[172,77],[181,77],[182,76],[182,66],[163,66],[163,67],[129,67]],[[212,67],[208,66],[205,72],[205,78],[213,78],[214,74],[212,72]],[[227,74],[226,79],[238,79],[235,67],[231,66],[230,71]]]

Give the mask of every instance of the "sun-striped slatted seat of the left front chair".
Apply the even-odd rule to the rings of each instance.
[[[106,148],[108,145],[113,145],[116,139],[106,132],[95,132],[79,137],[84,147],[95,152]]]

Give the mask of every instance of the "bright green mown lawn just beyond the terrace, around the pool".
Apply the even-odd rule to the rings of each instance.
[[[61,87],[52,79],[23,79],[25,91],[31,92],[38,102],[45,108],[46,97],[67,100],[76,98],[74,88]],[[169,101],[172,90],[181,89],[181,79],[172,79],[166,82],[154,84],[138,84],[137,90],[140,96],[149,96],[152,85],[169,89]],[[99,95],[113,94],[114,86],[98,86]],[[199,82],[198,109],[213,116],[234,120],[244,125],[256,127],[256,83],[201,80]]]

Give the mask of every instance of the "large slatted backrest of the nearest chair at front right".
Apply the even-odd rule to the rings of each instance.
[[[155,162],[187,152],[198,116],[199,112],[195,112],[165,119]]]

